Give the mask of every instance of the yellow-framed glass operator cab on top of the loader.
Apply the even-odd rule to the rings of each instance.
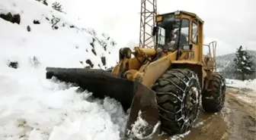
[[[203,53],[203,20],[187,11],[175,11],[156,16],[153,29],[155,48],[163,50],[196,51],[198,59]],[[196,60],[195,60],[196,61]],[[198,60],[199,61],[199,60]]]

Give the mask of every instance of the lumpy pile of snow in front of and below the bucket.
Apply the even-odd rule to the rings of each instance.
[[[126,116],[117,101],[89,100],[77,87],[37,77],[0,78],[0,139],[119,139]]]

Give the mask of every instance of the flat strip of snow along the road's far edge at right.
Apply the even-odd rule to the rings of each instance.
[[[226,86],[235,87],[238,89],[253,89],[256,91],[256,79],[238,80],[238,79],[226,79]]]

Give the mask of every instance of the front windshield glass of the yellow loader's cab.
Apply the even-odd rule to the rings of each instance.
[[[156,47],[168,49],[182,48],[188,44],[189,20],[174,18],[174,14],[162,16],[162,21],[157,24]]]

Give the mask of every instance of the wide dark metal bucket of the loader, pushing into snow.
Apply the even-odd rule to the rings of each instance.
[[[111,75],[104,70],[46,67],[46,79],[55,76],[64,82],[73,82],[92,92],[95,98],[115,98],[124,110],[130,108],[126,122],[125,139],[156,139],[160,129],[155,92],[140,82]],[[139,120],[141,117],[146,122]],[[140,123],[140,124],[139,124]]]

